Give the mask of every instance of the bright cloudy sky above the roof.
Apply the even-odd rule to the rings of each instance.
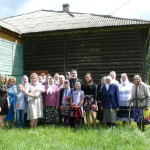
[[[71,12],[150,20],[150,0],[0,0],[0,19],[41,9],[62,11],[66,3]]]

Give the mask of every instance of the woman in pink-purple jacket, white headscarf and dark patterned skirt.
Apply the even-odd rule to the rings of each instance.
[[[59,93],[60,89],[58,86],[54,85],[54,79],[50,78],[48,81],[48,85],[45,86],[45,112],[44,112],[44,120],[49,124],[57,124],[59,121]]]

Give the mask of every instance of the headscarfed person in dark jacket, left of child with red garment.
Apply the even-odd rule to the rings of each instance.
[[[71,89],[69,80],[64,81],[64,88],[60,91],[60,109],[61,115],[64,119],[64,125],[70,125],[70,98],[71,98]]]

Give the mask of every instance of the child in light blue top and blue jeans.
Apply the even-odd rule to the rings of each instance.
[[[14,113],[16,113],[16,126],[17,128],[24,128],[24,117],[27,112],[27,101],[23,85],[18,84],[18,92],[16,93],[14,101]]]

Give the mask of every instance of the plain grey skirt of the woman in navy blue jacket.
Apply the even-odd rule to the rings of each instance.
[[[103,122],[106,123],[116,123],[117,121],[117,112],[115,109],[104,109],[104,118]]]

